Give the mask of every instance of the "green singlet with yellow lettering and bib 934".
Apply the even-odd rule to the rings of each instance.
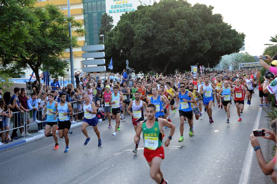
[[[147,128],[146,121],[147,119],[144,120],[142,124],[144,148],[156,150],[158,147],[163,145],[162,133],[159,128],[159,120],[156,118],[155,123],[151,128]]]

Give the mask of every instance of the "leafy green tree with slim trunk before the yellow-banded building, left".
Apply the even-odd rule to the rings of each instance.
[[[84,29],[80,22],[74,21],[74,17],[64,16],[56,6],[46,5],[45,7],[30,6],[29,11],[38,19],[36,25],[27,26],[26,30],[30,39],[20,43],[22,52],[3,55],[2,65],[8,72],[22,71],[30,67],[40,81],[39,70],[58,71],[63,61],[60,57],[69,48],[71,39],[69,38],[68,22],[71,22],[72,29],[84,34]],[[77,38],[72,38],[73,47],[77,45]]]

